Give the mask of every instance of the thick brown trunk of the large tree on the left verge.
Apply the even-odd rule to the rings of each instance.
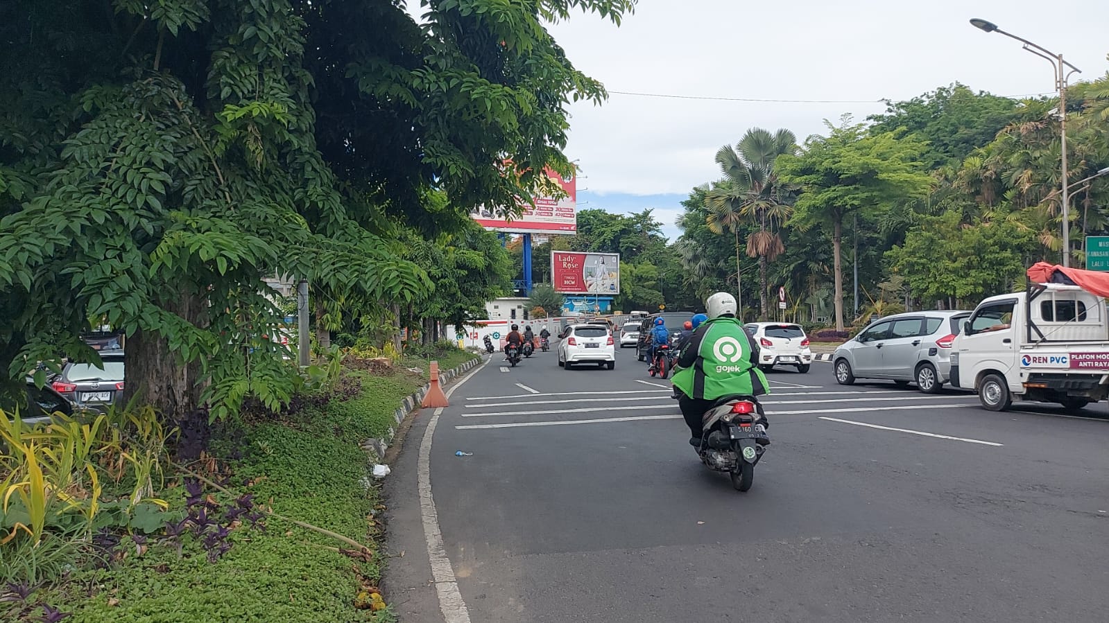
[[[194,326],[207,323],[207,300],[187,287],[180,288],[175,297],[166,297],[162,307]],[[152,331],[140,329],[129,337],[123,404],[135,399],[135,405],[151,405],[162,421],[173,426],[196,418],[203,408],[201,365],[182,365],[177,357],[166,340]]]

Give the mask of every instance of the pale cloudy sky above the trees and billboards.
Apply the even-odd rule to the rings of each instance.
[[[716,150],[749,127],[786,127],[804,141],[825,119],[863,121],[885,110],[882,99],[953,82],[998,95],[1054,92],[1048,61],[970,18],[1061,52],[1082,70],[1071,82],[1109,71],[1105,0],[640,0],[619,28],[593,14],[552,24],[571,62],[610,91],[600,106],[569,106],[578,207],[652,208],[673,239],[680,202],[719,178]]]

